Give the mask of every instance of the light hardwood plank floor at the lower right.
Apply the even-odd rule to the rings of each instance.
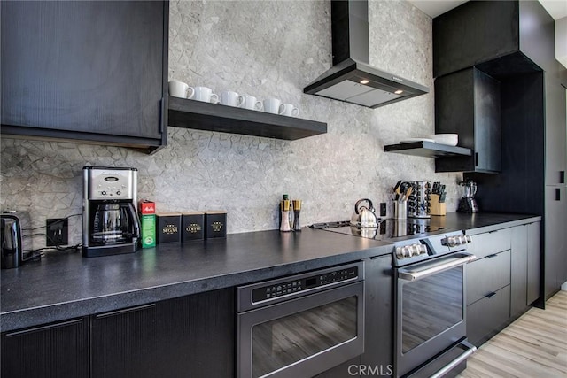
[[[567,377],[567,291],[532,308],[484,343],[459,378]]]

